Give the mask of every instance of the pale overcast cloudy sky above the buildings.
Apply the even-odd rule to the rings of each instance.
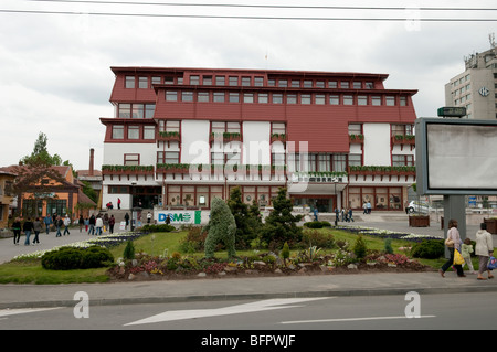
[[[417,89],[417,116],[432,117],[445,105],[444,85],[464,71],[464,56],[490,49],[497,23],[495,0],[112,1],[0,2],[0,167],[30,154],[44,132],[51,154],[85,170],[94,148],[99,169],[99,118],[114,115],[110,66],[385,73],[387,88]]]

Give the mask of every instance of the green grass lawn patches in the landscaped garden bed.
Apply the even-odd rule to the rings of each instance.
[[[346,231],[321,228],[321,232],[331,232],[335,236],[335,241],[347,241],[350,246],[353,246],[357,235],[348,233]],[[144,235],[135,239],[136,252],[145,252],[154,256],[171,255],[173,252],[179,250],[180,241],[187,236],[187,232],[170,232],[170,233],[155,233]],[[373,236],[363,235],[368,249],[383,250],[384,239]],[[392,239],[392,248],[394,253],[400,252],[399,247],[409,247],[412,242]],[[124,248],[126,244],[123,243],[118,246],[112,247],[110,252],[114,258],[123,257]],[[261,252],[264,252],[262,249]],[[326,252],[332,252],[326,250]],[[253,250],[237,252],[240,256],[248,255]],[[203,257],[203,253],[197,253],[195,256]],[[225,258],[225,252],[216,253],[216,257]],[[420,259],[421,263],[430,265],[434,268],[440,268],[445,262],[444,258],[440,259]],[[474,262],[475,268],[477,267],[477,259]],[[13,282],[13,284],[78,284],[78,282],[105,282],[109,278],[105,274],[106,268],[98,269],[81,269],[81,270],[46,270],[42,268],[40,260],[22,260],[10,262],[0,265],[0,284]]]

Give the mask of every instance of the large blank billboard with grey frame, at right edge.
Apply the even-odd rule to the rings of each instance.
[[[420,118],[419,194],[497,194],[497,121]]]

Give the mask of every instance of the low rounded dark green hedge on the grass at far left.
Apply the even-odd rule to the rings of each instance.
[[[114,263],[114,257],[105,247],[62,247],[45,253],[41,262],[49,270],[72,270],[106,267]]]

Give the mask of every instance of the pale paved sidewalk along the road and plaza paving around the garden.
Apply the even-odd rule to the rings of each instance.
[[[396,214],[399,215],[399,214]],[[367,221],[351,225],[361,225],[443,237],[440,224],[426,228],[412,228],[408,222],[391,215],[364,215]],[[341,224],[341,223],[340,223]],[[468,228],[468,236],[473,228]],[[475,227],[476,232],[476,227]],[[0,263],[8,262],[19,254],[39,249],[50,249],[72,242],[91,238],[78,228],[70,236],[55,237],[55,233],[40,234],[38,246],[14,246],[12,238],[0,239]],[[496,242],[497,243],[497,242]],[[203,278],[191,280],[133,281],[116,284],[81,285],[0,285],[0,309],[27,307],[74,307],[74,294],[88,294],[91,305],[126,305],[175,302],[189,300],[228,300],[228,299],[266,299],[283,297],[318,296],[368,296],[368,295],[405,295],[409,291],[421,294],[497,291],[497,279],[479,281],[476,275],[457,278],[454,273],[446,273],[442,278],[438,273],[409,274],[357,274],[316,275],[263,278]]]

